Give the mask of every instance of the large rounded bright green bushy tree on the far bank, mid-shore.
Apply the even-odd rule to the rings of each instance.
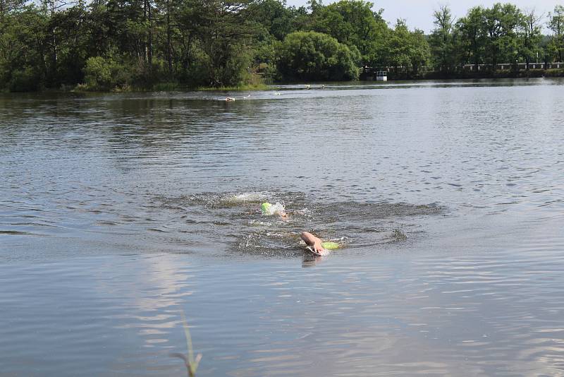
[[[278,70],[286,79],[354,80],[359,73],[358,52],[321,32],[288,34],[278,56]]]

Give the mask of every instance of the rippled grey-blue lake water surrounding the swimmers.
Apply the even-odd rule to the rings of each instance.
[[[198,376],[563,376],[563,119],[548,79],[0,95],[0,374],[183,376],[184,313]]]

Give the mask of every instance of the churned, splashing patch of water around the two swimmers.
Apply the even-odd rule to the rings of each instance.
[[[190,222],[195,232],[203,231],[198,225],[213,224],[205,232],[210,239],[231,244],[231,251],[267,257],[302,255],[302,231],[337,242],[341,249],[377,249],[421,234],[419,219],[446,210],[437,203],[324,203],[291,191],[196,193],[157,200],[176,215],[182,213],[183,221],[187,226]],[[276,204],[261,210],[262,203]]]

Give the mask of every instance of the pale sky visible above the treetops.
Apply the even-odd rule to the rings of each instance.
[[[323,4],[331,4],[334,1],[324,0]],[[455,18],[466,15],[472,6],[492,6],[494,3],[510,2],[522,10],[535,8],[538,14],[543,14],[546,18],[548,12],[554,6],[564,5],[564,0],[374,0],[374,10],[384,8],[382,17],[392,25],[397,18],[404,18],[410,28],[418,28],[425,33],[429,33],[433,28],[433,11],[439,9],[441,5],[448,5]],[[302,6],[307,4],[307,0],[287,0],[288,6]],[[545,28],[546,31],[546,28]]]

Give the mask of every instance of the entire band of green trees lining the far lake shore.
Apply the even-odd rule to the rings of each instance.
[[[78,2],[77,2],[78,1]],[[458,20],[434,11],[430,35],[390,25],[364,0],[0,0],[0,88],[128,90],[353,80],[364,67],[562,61],[564,6],[513,4]],[[549,35],[543,34],[546,26]]]

